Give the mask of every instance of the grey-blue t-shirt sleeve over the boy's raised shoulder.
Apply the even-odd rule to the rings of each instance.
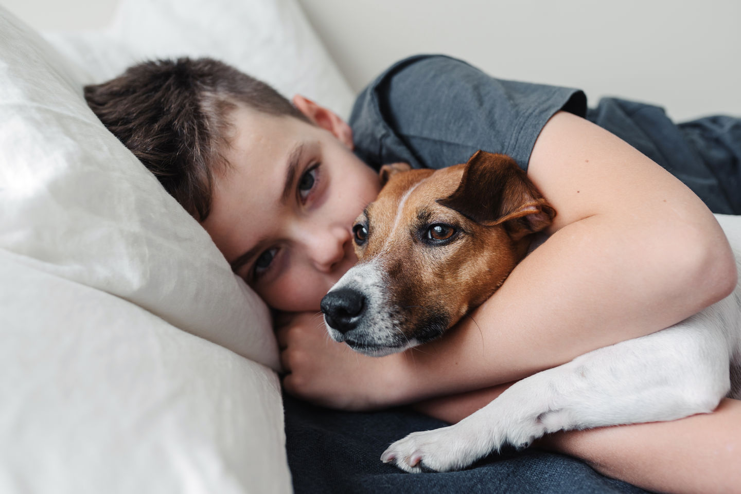
[[[448,56],[413,56],[362,91],[350,126],[356,154],[376,168],[448,167],[481,149],[527,170],[536,138],[559,110],[584,116],[584,93],[495,79]]]

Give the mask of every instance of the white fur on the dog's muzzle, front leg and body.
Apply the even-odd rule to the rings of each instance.
[[[741,269],[741,217],[717,216]],[[382,262],[353,267],[336,286],[383,300]],[[371,316],[379,333],[393,321]],[[382,454],[408,472],[467,467],[504,444],[526,447],[558,430],[669,421],[741,398],[741,283],[730,296],[658,333],[601,348],[512,385],[450,427],[412,433]],[[339,332],[332,336],[342,341]],[[413,346],[413,342],[409,346]],[[403,350],[397,349],[396,351]]]

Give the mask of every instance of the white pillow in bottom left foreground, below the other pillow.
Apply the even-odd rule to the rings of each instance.
[[[275,373],[22,257],[0,250],[0,493],[291,492]]]

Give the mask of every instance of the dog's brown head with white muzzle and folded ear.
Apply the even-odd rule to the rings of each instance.
[[[359,263],[322,299],[332,338],[373,356],[437,338],[482,304],[556,214],[504,155],[388,165],[381,180],[353,227]]]

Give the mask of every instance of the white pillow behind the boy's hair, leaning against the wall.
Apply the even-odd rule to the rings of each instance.
[[[46,33],[102,82],[147,59],[210,56],[290,99],[315,99],[348,118],[353,91],[294,0],[121,0],[113,24],[92,33]]]

